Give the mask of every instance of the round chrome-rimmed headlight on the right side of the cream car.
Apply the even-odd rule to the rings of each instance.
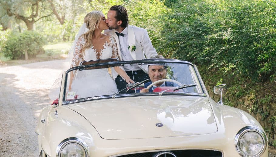
[[[240,155],[245,157],[255,157],[264,152],[267,139],[265,133],[258,127],[247,126],[237,133],[235,144]]]

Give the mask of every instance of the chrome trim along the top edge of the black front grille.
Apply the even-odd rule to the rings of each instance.
[[[161,152],[161,151],[172,151],[172,150],[213,150],[213,151],[218,151],[221,152],[222,156],[224,157],[223,151],[220,149],[209,149],[209,148],[177,148],[177,149],[156,149],[156,150],[145,150],[145,151],[138,151],[138,152],[129,152],[129,153],[122,153],[122,154],[116,154],[108,157],[117,157],[117,156],[122,156],[122,155],[129,155],[129,154],[137,154],[137,153],[146,153],[146,152]]]

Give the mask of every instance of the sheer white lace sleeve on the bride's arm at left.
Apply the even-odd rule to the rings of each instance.
[[[72,59],[72,63],[71,63],[71,68],[74,67],[74,66],[78,66],[79,62],[84,61],[83,58],[82,58],[82,46],[84,44],[85,44],[84,37],[80,36],[77,43],[76,43],[75,50],[73,52],[73,59]]]

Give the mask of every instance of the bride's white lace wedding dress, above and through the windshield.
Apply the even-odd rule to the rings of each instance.
[[[114,37],[109,37],[103,49],[95,50],[92,46],[81,53],[81,47],[85,44],[84,37],[79,37],[76,43],[71,67],[79,66],[82,61],[95,59],[119,58],[118,49]],[[98,52],[97,52],[98,51]],[[79,62],[79,65],[77,63]],[[83,71],[73,71],[74,78],[70,91],[75,91],[78,98],[88,98],[102,95],[113,95],[118,92],[113,78],[108,73],[107,68],[92,69]],[[69,80],[68,80],[69,81]]]

